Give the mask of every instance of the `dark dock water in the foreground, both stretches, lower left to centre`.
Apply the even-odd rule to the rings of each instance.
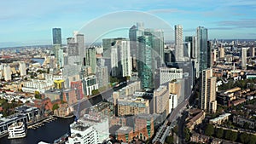
[[[129,83],[130,84],[130,83]],[[103,99],[108,99],[113,91],[125,87],[126,84],[119,85],[118,88],[109,89],[100,95],[96,95],[87,101],[83,101],[80,104],[79,110],[94,106],[101,102]],[[0,139],[0,144],[37,144],[39,141],[53,143],[56,139],[59,139],[62,135],[67,134],[70,130],[69,124],[72,124],[74,118],[58,118],[52,122],[44,123],[43,126],[36,130],[27,130],[25,138],[9,140],[8,136]]]

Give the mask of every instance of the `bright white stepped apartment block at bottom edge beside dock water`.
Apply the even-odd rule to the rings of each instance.
[[[84,124],[83,122],[74,122],[70,124],[71,136],[68,137],[66,144],[93,144],[99,143],[98,132],[94,126]]]

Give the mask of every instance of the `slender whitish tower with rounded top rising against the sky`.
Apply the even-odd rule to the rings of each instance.
[[[175,28],[175,59],[183,61],[183,26],[177,25]]]

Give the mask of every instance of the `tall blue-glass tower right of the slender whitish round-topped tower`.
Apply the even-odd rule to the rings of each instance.
[[[197,37],[197,54],[198,54],[198,62],[199,62],[199,72],[202,72],[203,70],[207,69],[207,60],[208,60],[208,54],[210,53],[208,51],[207,47],[207,28],[203,26],[197,27],[196,30],[196,37]]]

